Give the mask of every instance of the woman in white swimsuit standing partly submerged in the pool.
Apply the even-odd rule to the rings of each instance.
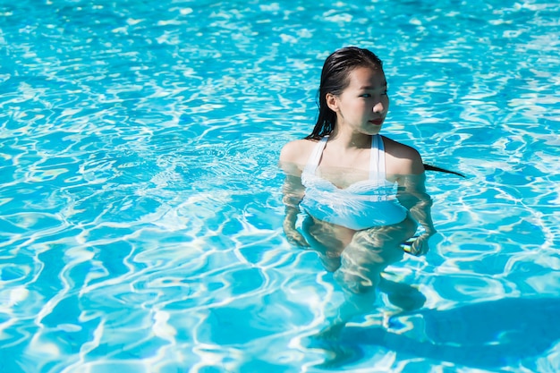
[[[428,251],[436,233],[425,191],[424,165],[411,147],[381,136],[389,108],[382,63],[367,49],[329,55],[318,92],[318,121],[303,140],[282,149],[284,232],[317,250],[348,295],[328,333],[371,309],[381,272],[408,250]],[[301,231],[297,216],[304,212]]]

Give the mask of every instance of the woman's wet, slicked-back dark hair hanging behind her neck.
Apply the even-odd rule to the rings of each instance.
[[[327,57],[318,88],[317,123],[305,139],[319,140],[335,129],[336,113],[327,106],[327,93],[342,94],[350,84],[350,72],[357,67],[383,70],[383,63],[373,52],[359,47],[344,47]]]

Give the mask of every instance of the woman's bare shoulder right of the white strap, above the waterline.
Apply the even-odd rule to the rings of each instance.
[[[391,174],[422,174],[424,165],[416,148],[383,137],[385,145],[387,171]],[[390,170],[389,170],[390,169]]]

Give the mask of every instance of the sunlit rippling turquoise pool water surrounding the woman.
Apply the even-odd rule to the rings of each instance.
[[[560,371],[560,5],[0,0],[0,372]],[[438,234],[332,345],[282,233],[321,65],[375,51]],[[345,357],[333,359],[333,356]],[[321,363],[336,360],[330,368]]]

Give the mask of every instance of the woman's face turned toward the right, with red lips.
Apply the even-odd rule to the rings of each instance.
[[[389,109],[385,73],[381,68],[357,67],[348,79],[343,93],[333,96],[335,108],[329,105],[336,113],[336,125],[368,135],[378,134]]]

